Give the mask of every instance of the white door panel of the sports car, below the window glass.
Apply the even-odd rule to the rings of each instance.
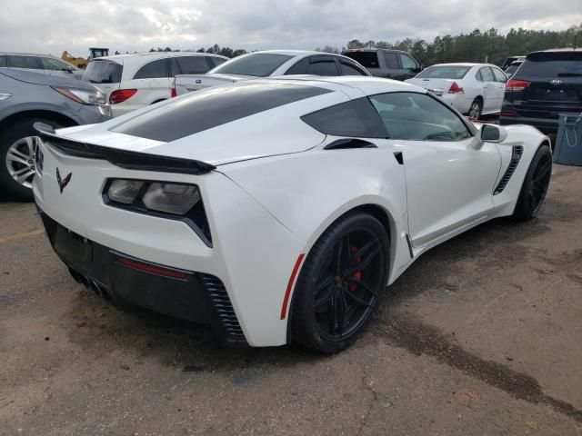
[[[415,247],[475,221],[494,206],[492,192],[501,166],[496,144],[390,140],[402,152],[408,225]]]

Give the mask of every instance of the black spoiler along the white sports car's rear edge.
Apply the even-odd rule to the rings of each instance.
[[[128,170],[199,175],[209,173],[216,169],[216,166],[210,163],[196,161],[194,159],[129,152],[127,150],[117,150],[102,145],[75,141],[59,136],[55,133],[55,129],[51,125],[45,123],[35,123],[34,128],[43,142],[51,144],[63,154],[83,157],[85,159],[104,159],[113,163],[115,166]]]

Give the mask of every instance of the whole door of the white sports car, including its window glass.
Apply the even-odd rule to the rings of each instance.
[[[408,230],[420,247],[483,219],[494,207],[501,167],[496,144],[482,143],[467,121],[430,94],[369,97],[388,144],[406,173]]]

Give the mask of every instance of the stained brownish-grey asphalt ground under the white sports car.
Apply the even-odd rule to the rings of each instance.
[[[426,253],[355,346],[220,349],[76,284],[35,207],[0,203],[0,433],[582,434],[582,171],[532,222]]]

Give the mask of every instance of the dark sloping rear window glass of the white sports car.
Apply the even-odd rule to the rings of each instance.
[[[138,115],[112,131],[169,143],[246,116],[330,92],[302,84],[229,84],[187,94],[173,104]]]

